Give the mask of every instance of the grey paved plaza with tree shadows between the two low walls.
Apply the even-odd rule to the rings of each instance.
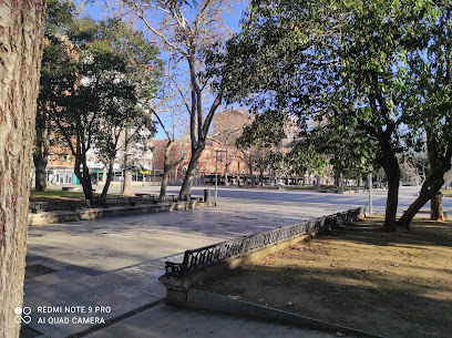
[[[193,195],[201,196],[203,190],[195,187]],[[135,187],[141,193],[156,191],[157,187]],[[170,193],[176,194],[177,187],[170,187]],[[400,212],[414,194],[412,188],[402,188]],[[132,338],[331,337],[289,326],[170,308],[162,304],[165,289],[157,278],[164,273],[166,260],[182,262],[185,249],[362,206],[368,203],[368,195],[224,187],[218,196],[218,205],[210,208],[30,227],[28,265],[54,272],[25,279],[24,306],[32,309],[33,320],[22,338],[70,337],[78,332],[86,337]],[[374,212],[384,209],[384,192],[374,193]],[[450,208],[451,203],[444,199],[444,209]],[[42,314],[45,306],[107,308],[104,313],[71,316],[102,318],[107,324],[113,319],[113,324],[86,331],[95,325],[49,322],[49,317],[56,315]],[[137,314],[132,316],[133,310]],[[38,322],[41,317],[47,318],[45,322]]]

